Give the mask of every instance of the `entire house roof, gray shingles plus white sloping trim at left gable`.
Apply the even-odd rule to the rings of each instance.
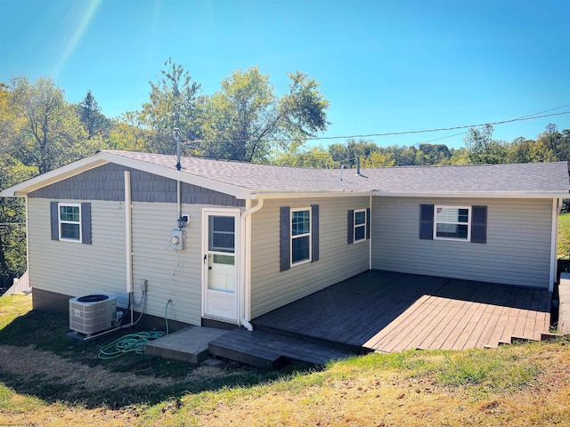
[[[282,165],[104,150],[2,191],[21,196],[54,181],[106,163],[159,174],[216,189],[238,198],[314,194],[384,196],[565,197],[570,190],[566,162],[510,165],[401,166],[362,169],[313,169]]]

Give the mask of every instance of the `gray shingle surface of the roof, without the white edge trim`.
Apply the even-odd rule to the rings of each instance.
[[[175,156],[109,151],[165,167]],[[182,157],[182,172],[256,192],[375,191],[381,193],[568,193],[566,162],[509,165],[401,166],[362,169],[313,169],[282,165]],[[341,179],[342,177],[342,179]]]

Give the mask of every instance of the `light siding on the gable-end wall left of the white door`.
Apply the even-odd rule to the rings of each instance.
[[[60,199],[65,202],[68,200]],[[125,205],[91,201],[92,245],[50,238],[49,199],[28,198],[28,256],[33,287],[79,296],[98,292],[118,294],[126,302]],[[201,209],[183,205],[191,215],[185,249],[169,248],[177,222],[176,205],[133,203],[134,300],[141,301],[142,281],[148,281],[144,312],[160,318],[199,325],[201,319]],[[171,300],[170,304],[167,302]],[[135,311],[141,311],[137,307]]]

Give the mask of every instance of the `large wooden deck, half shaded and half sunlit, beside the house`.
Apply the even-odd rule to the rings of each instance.
[[[371,270],[252,321],[346,348],[384,352],[541,340],[548,290]]]

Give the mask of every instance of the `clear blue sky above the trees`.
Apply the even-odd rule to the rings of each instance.
[[[330,101],[325,137],[570,111],[568,0],[0,0],[0,11],[0,81],[50,76],[70,102],[91,89],[108,117],[141,109],[169,57],[203,93],[237,68],[258,66],[277,93],[287,72],[307,73]],[[570,114],[493,137],[535,138],[549,123],[570,129]],[[457,148],[463,132],[369,139]]]

